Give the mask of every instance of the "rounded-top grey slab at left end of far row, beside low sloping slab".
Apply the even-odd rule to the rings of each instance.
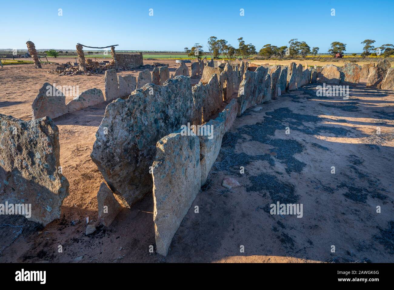
[[[56,118],[67,114],[66,97],[54,86],[46,82],[32,104],[33,120],[48,116]]]

